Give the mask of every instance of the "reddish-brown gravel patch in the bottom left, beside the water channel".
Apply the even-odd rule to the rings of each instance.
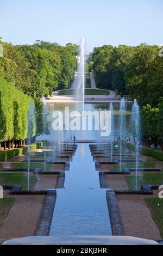
[[[8,192],[4,197],[15,197],[15,203],[0,228],[0,240],[35,235],[46,196],[9,196]]]

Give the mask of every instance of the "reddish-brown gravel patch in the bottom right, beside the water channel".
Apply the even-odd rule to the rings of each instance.
[[[161,240],[159,229],[144,200],[152,195],[117,194],[116,197],[125,235]]]

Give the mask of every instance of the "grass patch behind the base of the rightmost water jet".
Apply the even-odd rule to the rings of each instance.
[[[135,175],[133,176],[125,176],[127,181],[129,190],[135,190]],[[155,184],[155,185],[162,185],[163,184],[163,172],[161,173],[145,173],[139,172],[139,176],[137,176],[137,184],[138,188],[141,188],[143,184]]]

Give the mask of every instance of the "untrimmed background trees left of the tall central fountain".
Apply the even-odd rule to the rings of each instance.
[[[65,47],[37,40],[34,45],[3,45],[0,77],[30,96],[65,89],[73,79],[78,45]]]

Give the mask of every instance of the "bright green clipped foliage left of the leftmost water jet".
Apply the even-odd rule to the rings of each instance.
[[[0,78],[0,143],[28,136],[28,109],[32,99]]]

